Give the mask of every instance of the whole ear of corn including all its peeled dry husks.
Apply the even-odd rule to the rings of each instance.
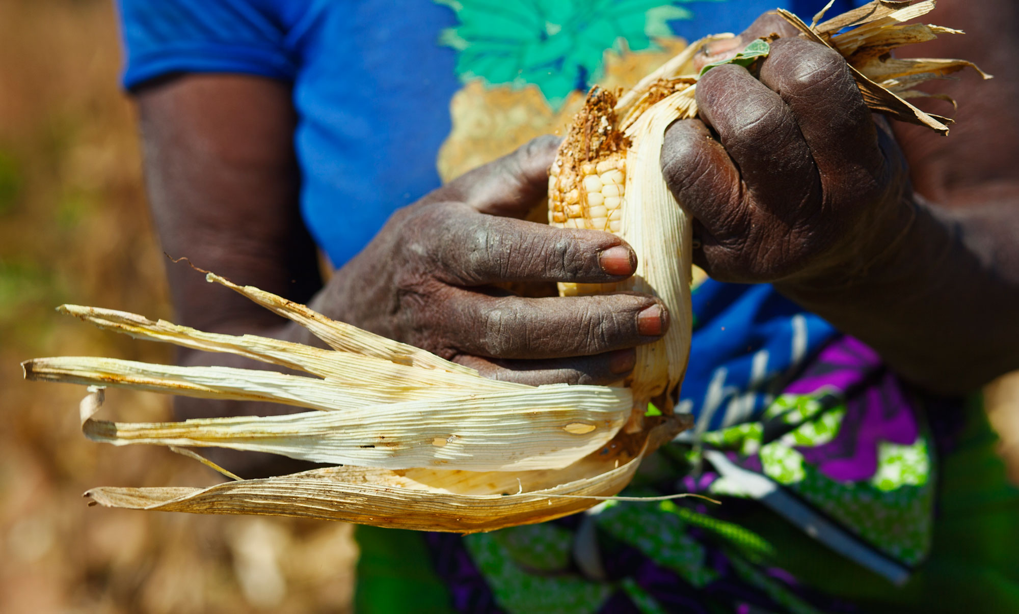
[[[925,96],[913,89],[919,82],[976,67],[964,60],[897,60],[888,54],[956,33],[903,23],[932,8],[932,0],[912,5],[878,0],[816,24],[822,11],[816,25],[780,13],[804,37],[847,57],[871,109],[946,133],[951,120],[904,99]],[[332,349],[204,333],[110,310],[64,305],[61,311],[107,330],[236,353],[311,377],[73,357],[28,360],[25,377],[93,386],[79,410],[83,432],[96,441],[171,449],[220,446],[344,466],[208,489],[98,488],[87,496],[110,507],[297,515],[471,533],[552,519],[618,493],[641,458],[687,424],[673,414],[671,399],[690,343],[690,224],[664,184],[658,158],[668,124],[697,114],[691,60],[709,40],[689,46],[623,96],[593,89],[550,171],[549,223],[616,233],[639,258],[636,274],[626,282],[562,285],[560,292],[646,292],[672,314],[666,335],[640,348],[629,388],[534,388],[484,380],[424,350],[210,274],[209,281],[301,324]],[[270,400],[315,411],[109,423],[94,418],[106,386]],[[652,399],[664,415],[642,420]]]

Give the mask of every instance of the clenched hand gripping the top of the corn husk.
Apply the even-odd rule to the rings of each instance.
[[[665,133],[662,171],[694,218],[694,262],[734,282],[843,283],[865,274],[912,216],[906,164],[875,122],[846,61],[796,38],[775,14],[713,44],[706,64],[758,37],[771,43],[759,79],[710,69],[700,119]]]

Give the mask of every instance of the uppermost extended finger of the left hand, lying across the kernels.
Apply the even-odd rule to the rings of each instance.
[[[450,206],[455,208],[457,206]],[[511,218],[440,208],[435,276],[460,286],[502,282],[611,283],[637,268],[620,237],[597,230],[553,228]]]

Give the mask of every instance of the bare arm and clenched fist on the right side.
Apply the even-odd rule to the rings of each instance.
[[[701,119],[674,124],[662,156],[696,219],[694,262],[723,281],[773,283],[929,391],[965,393],[1019,368],[1019,125],[1008,110],[1019,71],[1007,61],[1019,45],[995,38],[1019,11],[990,4],[940,3],[934,20],[970,34],[899,54],[971,58],[997,74],[928,87],[960,103],[949,138],[897,124],[898,144],[845,61],[802,39],[775,41],[759,80],[735,65],[709,71]],[[764,15],[719,51],[771,33],[795,35]],[[996,41],[995,55],[980,40]]]

